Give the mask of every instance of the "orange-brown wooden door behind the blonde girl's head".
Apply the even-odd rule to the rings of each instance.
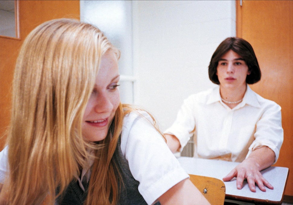
[[[18,51],[27,34],[54,18],[79,19],[79,1],[19,1],[20,39],[0,37],[0,150],[10,120],[11,82]],[[3,136],[3,137],[2,137]]]

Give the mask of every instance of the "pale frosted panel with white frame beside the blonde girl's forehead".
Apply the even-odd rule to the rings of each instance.
[[[123,103],[134,102],[132,67],[132,2],[80,0],[80,20],[94,24],[120,51],[118,61],[120,96]]]

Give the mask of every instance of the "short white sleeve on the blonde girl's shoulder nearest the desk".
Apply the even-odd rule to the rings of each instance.
[[[169,150],[163,137],[144,117],[130,113],[121,136],[121,150],[133,177],[140,182],[138,191],[152,204],[178,182],[189,176]],[[149,121],[148,121],[149,120]]]

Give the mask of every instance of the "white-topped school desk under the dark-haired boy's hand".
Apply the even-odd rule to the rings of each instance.
[[[178,157],[178,161],[188,174],[213,177],[222,180],[238,162],[222,160],[198,159],[192,157]],[[274,187],[266,187],[266,192],[256,186],[256,192],[250,191],[247,181],[244,180],[241,190],[236,188],[236,178],[225,181],[226,199],[257,204],[281,204],[284,196],[289,169],[271,166],[261,171],[262,176]]]

